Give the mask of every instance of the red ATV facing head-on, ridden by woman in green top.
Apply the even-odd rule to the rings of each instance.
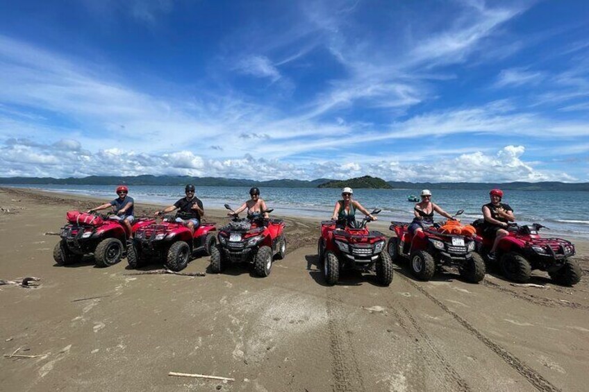
[[[374,210],[378,214],[381,210]],[[392,262],[385,251],[386,237],[381,232],[370,231],[366,223],[351,221],[322,221],[321,237],[317,241],[317,255],[323,263],[325,281],[330,286],[338,282],[340,269],[360,271],[376,270],[376,279],[383,286],[392,282]]]

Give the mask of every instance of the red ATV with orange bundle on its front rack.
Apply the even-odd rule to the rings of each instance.
[[[456,212],[456,217],[464,210]],[[455,222],[455,224],[451,224]],[[409,259],[409,266],[415,278],[430,280],[436,267],[442,265],[458,267],[461,276],[471,283],[485,278],[485,262],[474,250],[474,228],[463,227],[458,221],[449,220],[443,225],[435,223],[425,228],[422,235],[414,236],[408,232],[410,223],[391,222],[390,230],[397,237],[388,241],[388,253],[393,262],[403,257]]]

